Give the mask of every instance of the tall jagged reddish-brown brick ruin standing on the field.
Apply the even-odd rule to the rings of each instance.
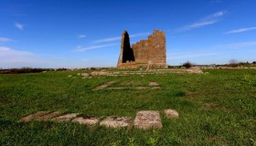
[[[166,68],[164,31],[154,30],[147,40],[141,40],[132,47],[127,31],[123,31],[117,68],[137,67]]]

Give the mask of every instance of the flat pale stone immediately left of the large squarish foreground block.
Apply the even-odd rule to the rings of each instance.
[[[131,128],[133,126],[133,118],[110,116],[102,120],[100,125],[110,128]]]

